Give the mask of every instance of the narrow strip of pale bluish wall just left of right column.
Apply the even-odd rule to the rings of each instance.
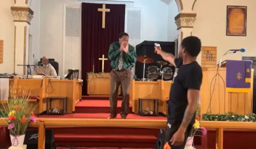
[[[168,41],[174,41],[174,39],[178,38],[177,25],[174,19],[178,14],[178,6],[175,0],[171,0],[168,7]]]

